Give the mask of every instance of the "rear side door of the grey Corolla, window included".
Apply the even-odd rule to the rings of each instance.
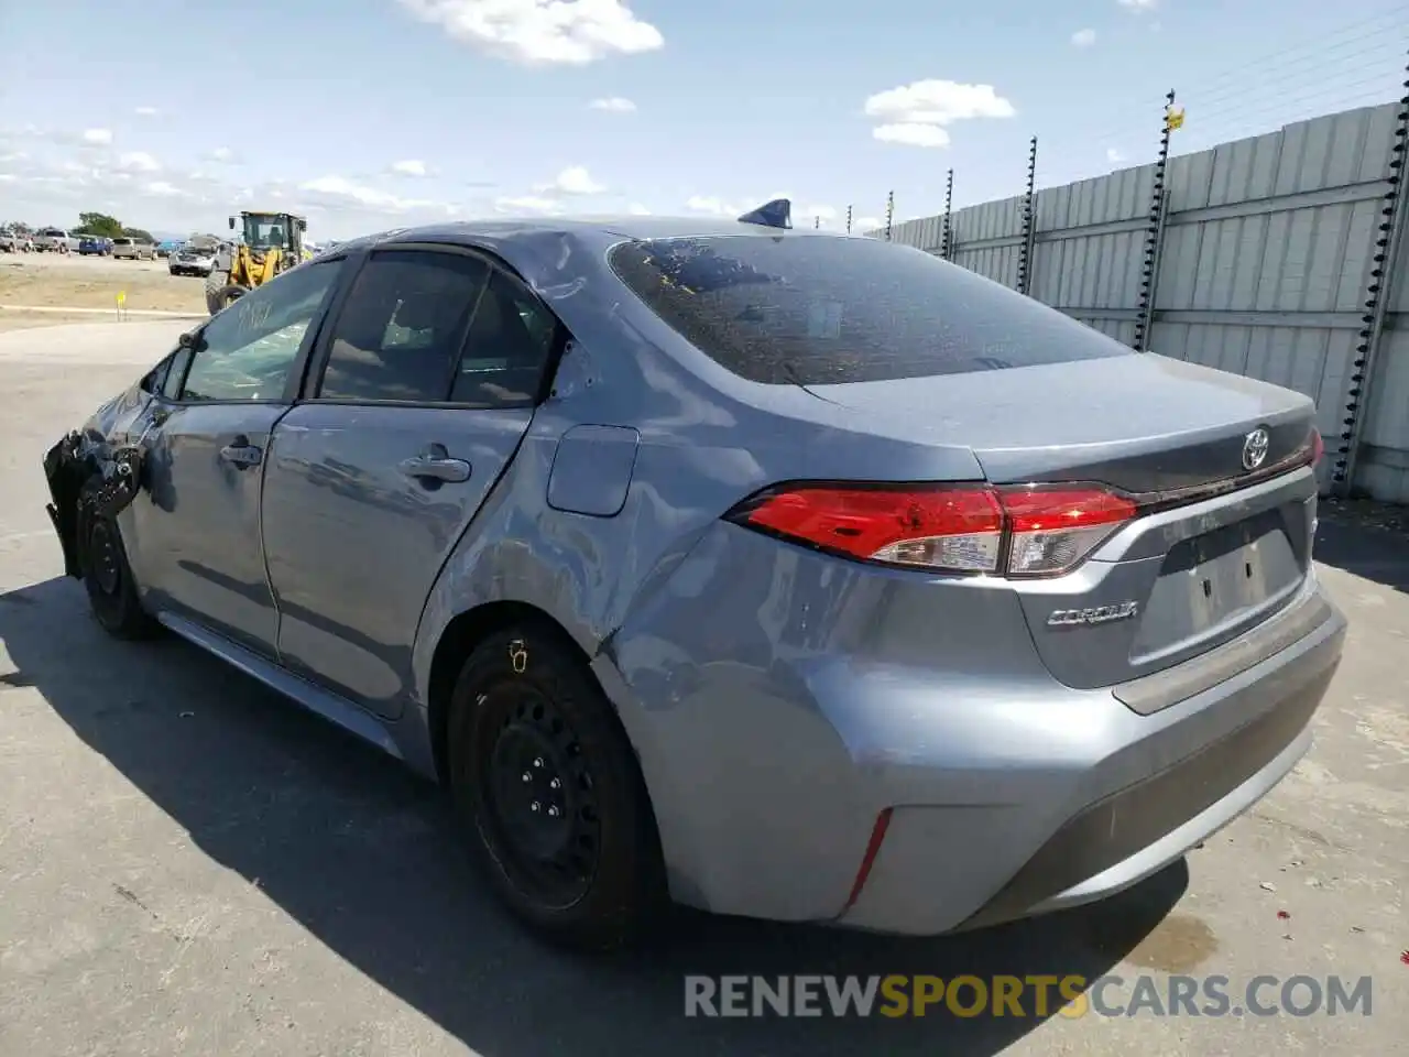
[[[286,665],[400,713],[426,598],[519,450],[559,342],[552,313],[479,254],[368,256],[265,471]]]

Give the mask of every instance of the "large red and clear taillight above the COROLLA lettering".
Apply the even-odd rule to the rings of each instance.
[[[938,572],[1054,576],[1138,513],[1102,488],[788,485],[728,519],[861,561]]]

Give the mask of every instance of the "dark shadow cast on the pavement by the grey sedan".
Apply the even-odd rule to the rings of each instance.
[[[936,1008],[923,1019],[688,1019],[685,975],[1089,979],[1112,971],[1188,882],[1179,863],[1093,908],[934,940],[681,912],[648,950],[568,956],[503,916],[437,789],[214,658],[175,638],[110,640],[65,579],[0,595],[0,637],[17,667],[3,681],[37,688],[203,853],[485,1053],[993,1054],[1041,1023],[1030,1001],[1023,1018]]]

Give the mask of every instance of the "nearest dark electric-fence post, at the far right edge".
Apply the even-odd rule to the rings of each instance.
[[[1374,379],[1375,358],[1384,344],[1385,313],[1395,282],[1395,264],[1405,238],[1405,161],[1409,158],[1409,63],[1405,65],[1403,96],[1399,100],[1399,120],[1395,121],[1395,141],[1389,147],[1389,190],[1379,210],[1379,224],[1375,228],[1375,248],[1371,254],[1370,285],[1365,290],[1365,309],[1361,316],[1361,330],[1355,342],[1354,371],[1350,375],[1350,390],[1340,421],[1340,450],[1332,482],[1340,496],[1350,496],[1355,485],[1355,461],[1360,455],[1361,437],[1365,431],[1363,404],[1367,403],[1370,385]]]

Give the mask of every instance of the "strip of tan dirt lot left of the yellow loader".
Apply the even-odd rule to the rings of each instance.
[[[206,285],[200,279],[173,276],[165,261],[114,261],[76,254],[0,255],[0,304],[62,309],[111,309],[125,293],[131,311],[206,313]],[[0,328],[14,330],[15,311],[0,311]],[[44,317],[49,317],[45,320]],[[75,321],[34,313],[28,326]],[[93,317],[89,317],[93,319]]]

